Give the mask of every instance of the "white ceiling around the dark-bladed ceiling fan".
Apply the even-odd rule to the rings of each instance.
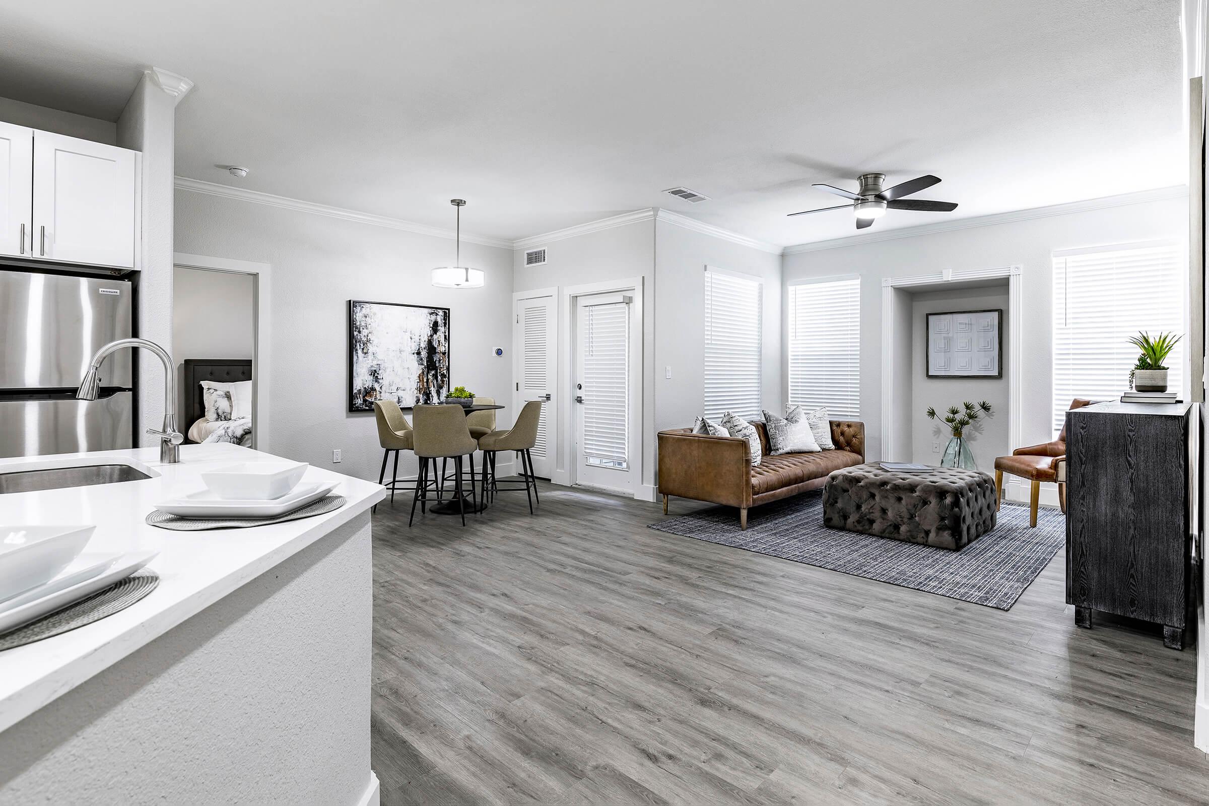
[[[1180,184],[1178,0],[0,0],[0,95],[115,120],[196,82],[177,173],[514,239],[665,207],[776,244],[855,234],[862,172],[954,214]],[[251,169],[237,181],[215,166]],[[711,197],[661,193],[684,185]]]

